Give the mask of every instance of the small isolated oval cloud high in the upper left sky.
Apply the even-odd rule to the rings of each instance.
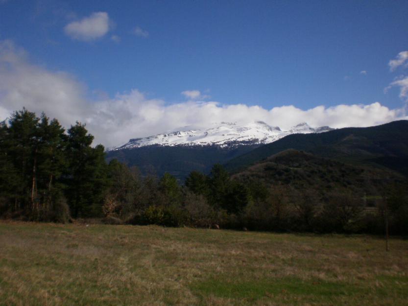
[[[108,13],[95,12],[80,21],[74,21],[64,27],[65,33],[72,39],[92,41],[108,33],[112,22]]]

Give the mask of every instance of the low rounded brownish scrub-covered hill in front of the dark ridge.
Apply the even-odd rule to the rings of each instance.
[[[348,165],[288,149],[233,175],[240,182],[287,186],[317,195],[352,193],[380,195],[390,182],[403,179],[391,170]]]

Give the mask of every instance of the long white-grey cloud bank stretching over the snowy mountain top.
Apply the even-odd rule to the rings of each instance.
[[[407,118],[402,110],[388,109],[379,102],[317,106],[308,110],[293,105],[264,109],[244,104],[197,101],[194,100],[196,93],[185,95],[188,101],[168,104],[161,99],[149,99],[134,89],[91,101],[86,98],[85,86],[72,75],[33,65],[24,50],[11,41],[0,42],[0,120],[25,106],[38,115],[44,111],[49,117],[58,118],[66,128],[76,120],[86,123],[95,136],[95,143],[108,147],[123,144],[130,138],[175,131],[185,126],[205,128],[221,121],[247,123],[262,120],[289,129],[304,121],[313,127],[341,128]]]

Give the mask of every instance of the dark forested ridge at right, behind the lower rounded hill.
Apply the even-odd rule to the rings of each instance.
[[[225,167],[238,172],[287,149],[303,150],[347,164],[388,168],[408,175],[408,120],[321,134],[289,135],[236,157]]]

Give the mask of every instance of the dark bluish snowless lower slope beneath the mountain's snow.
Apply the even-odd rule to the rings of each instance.
[[[162,176],[165,172],[184,180],[191,171],[207,173],[214,164],[223,164],[259,145],[240,145],[221,148],[207,146],[149,145],[139,148],[108,151],[108,161],[116,158],[128,166],[137,166],[142,174]]]

